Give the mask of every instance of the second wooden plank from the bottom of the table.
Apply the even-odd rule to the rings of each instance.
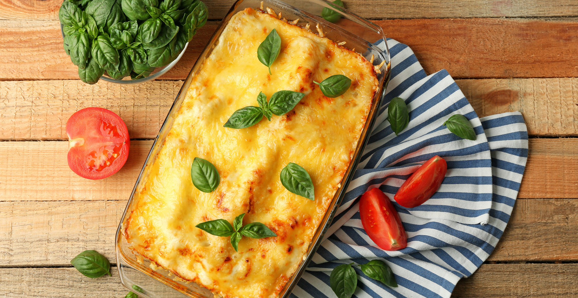
[[[125,200],[0,202],[0,265],[65,265],[85,249],[95,249],[114,262],[114,236],[126,204]],[[578,260],[577,214],[578,199],[518,199],[488,260]]]

